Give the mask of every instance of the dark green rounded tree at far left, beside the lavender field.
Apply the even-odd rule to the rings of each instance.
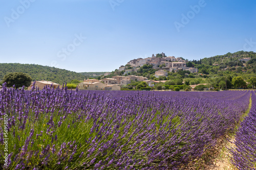
[[[31,85],[32,78],[23,72],[11,72],[5,75],[3,82],[6,82],[7,87],[12,87],[15,85],[16,88]]]

